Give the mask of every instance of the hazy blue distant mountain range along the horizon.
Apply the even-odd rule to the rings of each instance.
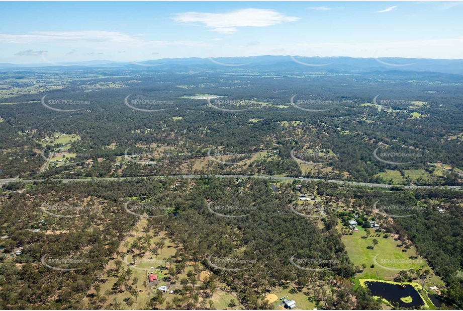
[[[37,67],[146,67],[146,68],[235,68],[267,71],[324,71],[333,73],[362,73],[372,71],[428,71],[463,74],[463,59],[427,58],[353,58],[353,57],[302,57],[302,56],[250,56],[217,58],[163,58],[141,62],[90,60],[84,62],[11,64],[0,63],[0,69]]]

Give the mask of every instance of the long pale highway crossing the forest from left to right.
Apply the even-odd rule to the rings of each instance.
[[[212,176],[212,175],[209,175]],[[159,178],[162,179],[164,178],[163,176],[149,176],[150,178]],[[199,175],[171,175],[169,177],[172,178],[199,178]],[[292,182],[293,180],[304,180],[304,181],[325,181],[328,183],[334,183],[334,184],[346,184],[349,186],[363,186],[363,187],[374,187],[374,188],[391,188],[393,186],[397,185],[386,185],[386,184],[372,184],[372,183],[359,183],[359,182],[347,182],[343,180],[325,180],[325,179],[318,179],[318,178],[302,178],[302,177],[280,177],[280,176],[263,176],[263,175],[214,175],[214,177],[217,178],[243,178],[247,179],[249,177],[251,178],[263,178],[263,179],[269,179],[271,181],[289,181]],[[62,181],[63,183],[69,183],[69,182],[91,182],[91,181],[97,181],[97,180],[108,180],[108,181],[123,181],[125,179],[137,179],[137,178],[147,178],[145,177],[102,177],[102,178],[78,178],[78,179],[0,179],[0,185],[14,182],[14,181],[20,181],[24,183],[32,183],[32,182],[42,182],[42,181]],[[461,186],[401,186],[404,187],[405,189],[417,189],[417,188],[436,188],[436,189],[449,189],[449,190],[463,190]]]

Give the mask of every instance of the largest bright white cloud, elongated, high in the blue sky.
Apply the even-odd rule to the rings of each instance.
[[[219,33],[232,33],[236,31],[236,27],[266,27],[295,22],[299,18],[274,10],[242,9],[228,13],[178,13],[173,20],[180,23],[201,23]]]

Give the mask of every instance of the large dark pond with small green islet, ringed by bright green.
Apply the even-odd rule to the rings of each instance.
[[[380,296],[395,305],[399,303],[400,307],[415,308],[423,305],[423,299],[412,285],[398,285],[377,281],[366,281],[365,285],[372,291],[372,295]],[[404,302],[400,298],[412,297],[411,302]]]

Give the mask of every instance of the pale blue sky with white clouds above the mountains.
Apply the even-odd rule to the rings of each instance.
[[[463,58],[457,2],[0,2],[0,63]]]

